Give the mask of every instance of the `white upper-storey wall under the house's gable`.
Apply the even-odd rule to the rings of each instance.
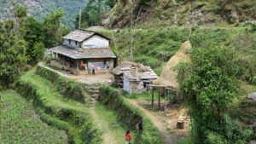
[[[104,37],[95,35],[93,37],[90,37],[89,39],[86,39],[83,42],[82,47],[86,47],[86,45],[94,45],[97,47],[108,47],[109,41],[108,41],[108,39],[106,39]]]

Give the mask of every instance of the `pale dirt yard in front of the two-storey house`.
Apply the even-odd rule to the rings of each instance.
[[[38,64],[39,66],[44,66],[42,63]],[[60,74],[62,77],[74,79],[79,83],[83,84],[94,84],[94,83],[101,83],[101,84],[111,84],[113,83],[113,74],[111,73],[98,73],[96,75],[84,75],[84,76],[76,76],[66,71],[57,71],[49,66],[44,66],[45,68],[49,69],[50,71],[56,72]]]

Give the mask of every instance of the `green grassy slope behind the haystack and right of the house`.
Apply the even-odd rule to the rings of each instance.
[[[138,26],[139,27],[139,26]],[[129,28],[119,29],[112,33],[109,30],[99,31],[105,36],[115,39],[119,55],[122,60],[129,60],[131,49],[131,30]],[[155,27],[148,29],[137,29],[134,40],[134,60],[144,65],[151,66],[160,75],[162,67],[175,55],[177,49],[188,39],[189,27]],[[241,72],[255,73],[256,66],[256,40],[253,38],[256,32],[247,32],[245,27],[199,27],[195,26],[190,39],[194,48],[207,48],[209,43],[218,46],[227,46],[236,49],[239,59],[242,61]],[[114,43],[111,48],[115,51]],[[251,67],[251,68],[250,68]],[[251,69],[251,72],[246,72]],[[242,76],[243,80],[249,80],[248,76]]]

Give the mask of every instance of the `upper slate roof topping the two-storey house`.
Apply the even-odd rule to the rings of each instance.
[[[85,39],[88,39],[94,35],[104,37],[97,32],[85,31],[85,30],[74,30],[73,32],[70,32],[69,34],[67,34],[66,36],[64,36],[62,38],[71,39],[71,40],[77,41],[77,42],[83,42]],[[104,37],[104,38],[110,40],[108,37]]]

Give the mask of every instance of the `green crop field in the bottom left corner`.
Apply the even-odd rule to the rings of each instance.
[[[0,95],[0,143],[67,143],[66,133],[44,124],[32,104],[14,90]]]

